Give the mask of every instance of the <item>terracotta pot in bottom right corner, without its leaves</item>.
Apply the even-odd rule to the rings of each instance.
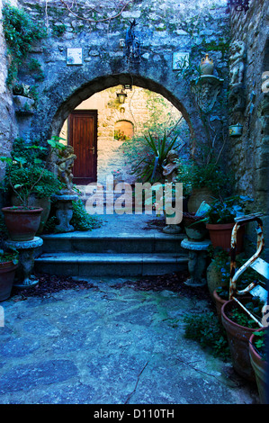
[[[265,330],[265,328],[258,329],[256,331]],[[256,376],[256,384],[259,392],[260,402],[261,404],[268,404],[269,395],[268,392],[268,364],[256,351],[254,347],[256,335],[252,334],[249,338],[249,356],[250,356],[250,363],[254,369],[255,376]]]

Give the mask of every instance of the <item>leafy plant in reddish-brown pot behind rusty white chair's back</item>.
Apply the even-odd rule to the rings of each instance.
[[[218,199],[211,203],[206,212],[206,228],[209,229],[211,243],[214,248],[230,249],[231,233],[235,225],[234,219],[246,213],[247,202],[253,200],[247,196],[236,195]],[[237,233],[237,254],[243,250],[245,226],[241,225]]]

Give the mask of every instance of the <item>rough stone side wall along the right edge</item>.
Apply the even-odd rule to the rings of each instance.
[[[250,3],[244,12],[231,14],[231,43],[244,42],[244,76],[234,99],[229,123],[243,125],[242,136],[230,137],[230,159],[236,175],[238,193],[254,198],[253,211],[264,213],[265,246],[268,250],[268,157],[269,93],[269,4],[265,0]],[[231,44],[232,45],[232,44]],[[266,74],[267,72],[267,74]],[[263,79],[264,78],[264,79]],[[236,105],[235,105],[236,104]],[[241,108],[237,105],[241,104]],[[254,230],[250,231],[255,242]]]

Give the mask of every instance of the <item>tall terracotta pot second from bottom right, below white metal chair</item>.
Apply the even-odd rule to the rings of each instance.
[[[242,302],[243,303],[243,302]],[[229,320],[229,311],[238,309],[234,300],[225,302],[221,307],[221,321],[226,330],[232,364],[235,371],[248,381],[255,382],[256,377],[250,363],[248,341],[257,329],[249,329]]]

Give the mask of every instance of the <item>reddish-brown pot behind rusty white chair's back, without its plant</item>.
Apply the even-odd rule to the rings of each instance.
[[[230,250],[231,232],[235,223],[212,224],[207,223],[206,228],[209,229],[211,243],[214,248],[221,247],[224,250]],[[245,226],[240,226],[237,233],[237,254],[243,251],[245,235]]]

